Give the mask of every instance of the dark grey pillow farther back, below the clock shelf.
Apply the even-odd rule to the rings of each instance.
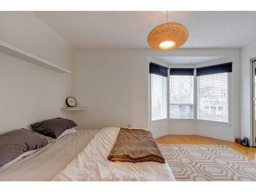
[[[55,119],[48,119],[38,123],[31,124],[34,131],[57,139],[63,132],[68,129],[72,129],[77,126],[77,124],[70,119],[63,119],[57,117]]]

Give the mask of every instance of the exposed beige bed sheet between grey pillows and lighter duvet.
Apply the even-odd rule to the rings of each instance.
[[[91,141],[99,130],[77,130],[33,155],[0,168],[0,181],[50,181]]]

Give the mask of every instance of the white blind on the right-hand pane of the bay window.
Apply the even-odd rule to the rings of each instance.
[[[197,77],[197,118],[228,122],[228,73]]]

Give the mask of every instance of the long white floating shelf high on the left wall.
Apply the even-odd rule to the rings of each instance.
[[[46,59],[43,59],[36,55],[28,53],[2,40],[0,40],[0,52],[6,53],[13,57],[17,57],[19,59],[26,60],[28,62],[32,62],[35,65],[56,71],[58,73],[71,73],[71,71],[68,69],[62,68]]]

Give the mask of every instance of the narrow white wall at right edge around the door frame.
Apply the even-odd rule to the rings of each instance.
[[[256,42],[241,49],[241,137],[248,137],[252,145],[252,65],[256,57]]]

